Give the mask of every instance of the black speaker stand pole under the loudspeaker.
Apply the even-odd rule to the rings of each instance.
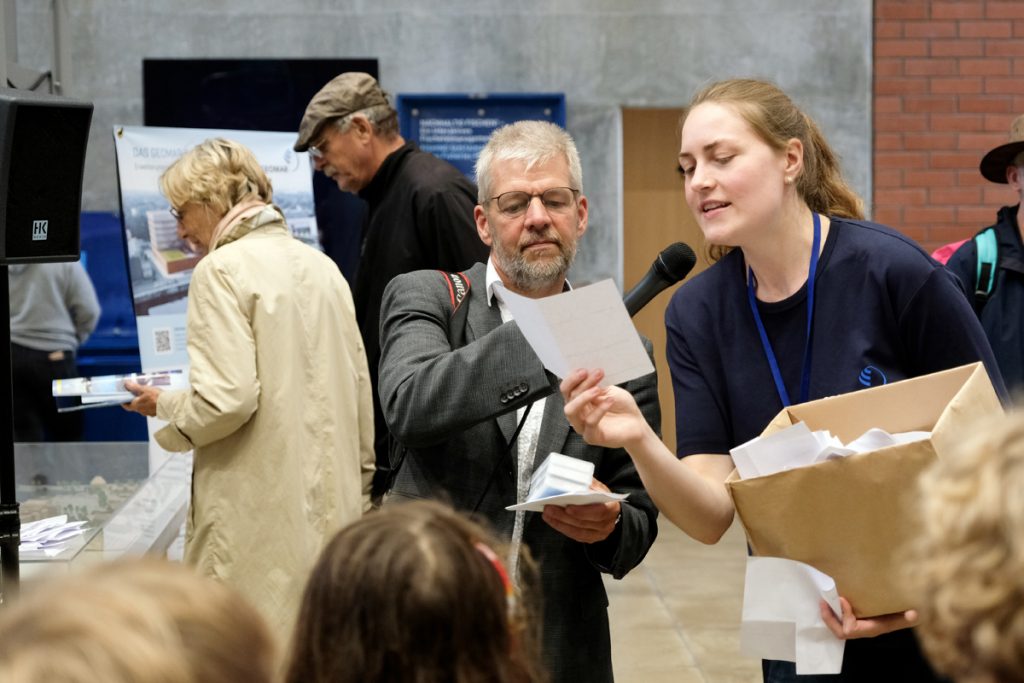
[[[0,599],[4,604],[17,597],[17,547],[22,541],[22,517],[18,512],[17,487],[14,483],[13,382],[10,368],[10,281],[7,265],[0,264],[0,390],[6,394],[6,415],[0,415]],[[0,401],[2,402],[2,401]]]

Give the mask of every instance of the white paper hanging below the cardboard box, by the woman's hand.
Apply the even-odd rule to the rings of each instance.
[[[746,558],[739,650],[795,661],[797,674],[839,674],[846,641],[821,621],[818,602],[840,612],[836,582],[809,564],[778,557]]]

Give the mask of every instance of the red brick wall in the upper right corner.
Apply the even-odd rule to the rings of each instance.
[[[932,249],[1016,204],[981,177],[1024,114],[1024,1],[874,0],[871,217]]]

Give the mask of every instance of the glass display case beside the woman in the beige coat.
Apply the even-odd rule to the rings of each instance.
[[[14,472],[23,523],[61,514],[87,522],[54,556],[20,553],[20,572],[29,578],[165,553],[185,518],[191,456],[175,455],[151,472],[145,441],[16,443]]]

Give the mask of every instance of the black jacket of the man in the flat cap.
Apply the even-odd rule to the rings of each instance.
[[[388,459],[387,425],[377,393],[384,288],[402,272],[468,268],[485,261],[489,250],[473,220],[476,185],[415,142],[388,155],[359,197],[370,205],[370,215],[352,299],[374,387],[374,451],[380,468]]]

